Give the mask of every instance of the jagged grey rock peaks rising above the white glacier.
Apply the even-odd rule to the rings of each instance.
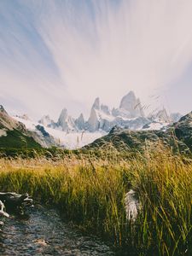
[[[84,119],[83,113],[79,115],[78,119],[73,119],[68,115],[67,108],[63,108],[56,122],[50,119],[49,115],[44,115],[38,122],[46,127],[67,132],[109,132],[115,125],[131,130],[143,129],[143,126],[145,129],[149,129],[152,124],[164,126],[177,121],[180,117],[179,113],[172,113],[168,116],[165,108],[146,116],[140,99],[135,96],[133,91],[130,91],[121,99],[119,108],[110,109],[107,105],[102,104],[97,97],[90,109],[88,120]]]

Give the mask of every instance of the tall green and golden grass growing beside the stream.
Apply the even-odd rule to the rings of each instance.
[[[127,221],[125,193],[137,192],[141,210]],[[81,229],[136,255],[191,255],[192,163],[165,148],[126,160],[92,154],[58,160],[0,160],[0,190],[28,192],[59,207]]]

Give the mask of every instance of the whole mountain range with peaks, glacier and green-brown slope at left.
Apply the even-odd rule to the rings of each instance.
[[[146,116],[133,91],[122,98],[119,108],[110,109],[96,98],[87,120],[83,113],[78,119],[73,119],[64,108],[56,122],[49,115],[35,122],[27,114],[11,117],[0,106],[0,148],[20,148],[25,142],[29,148],[81,148],[99,137],[111,136],[116,130],[165,131],[180,117],[179,113],[169,116],[165,108]]]

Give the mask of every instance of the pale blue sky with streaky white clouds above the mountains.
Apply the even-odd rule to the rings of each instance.
[[[0,104],[89,116],[133,90],[148,112],[192,110],[191,0],[0,0]]]

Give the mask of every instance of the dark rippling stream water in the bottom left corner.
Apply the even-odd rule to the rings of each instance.
[[[58,212],[35,207],[26,218],[7,218],[0,234],[1,256],[114,255],[95,236],[84,236]]]

